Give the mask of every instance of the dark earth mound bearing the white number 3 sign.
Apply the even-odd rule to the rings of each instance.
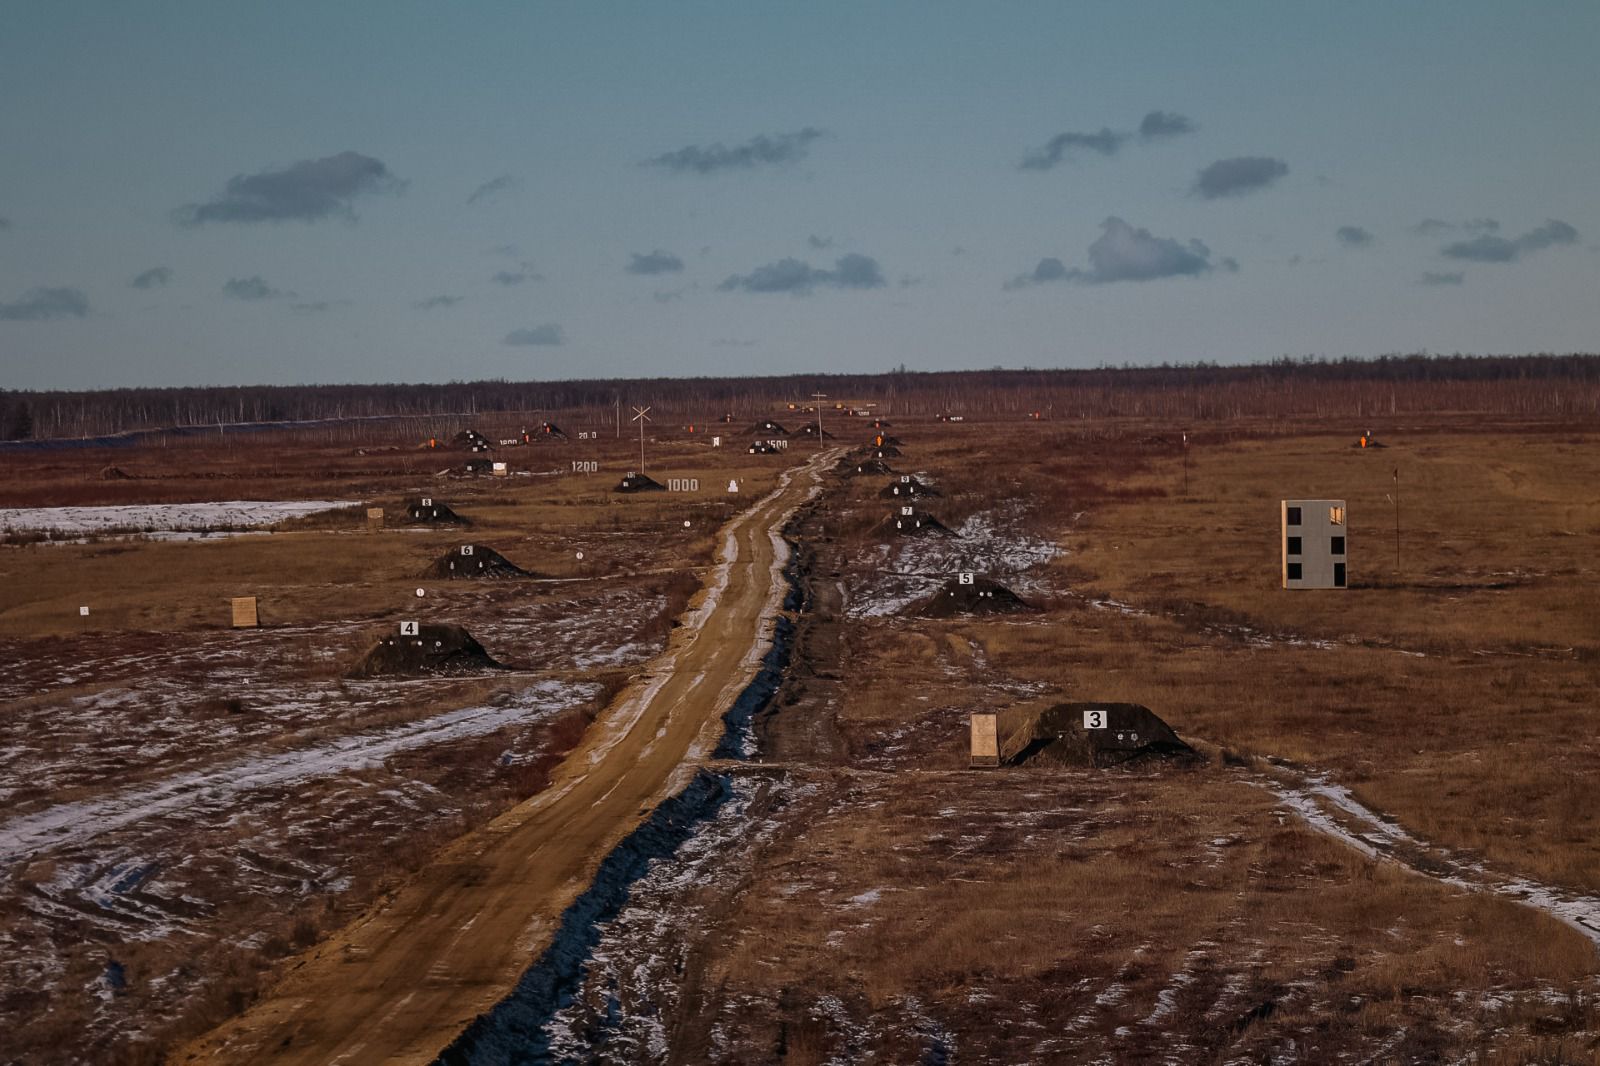
[[[1022,727],[1010,765],[1122,767],[1150,759],[1194,763],[1200,754],[1138,703],[1058,703]]]

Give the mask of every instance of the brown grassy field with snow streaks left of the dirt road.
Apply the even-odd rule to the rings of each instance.
[[[312,768],[232,800],[197,791],[194,810],[0,869],[0,1061],[160,1061],[170,1042],[237,1013],[285,959],[438,848],[541,791],[666,645],[725,517],[787,466],[746,455],[741,440],[726,445],[651,443],[653,477],[699,479],[699,490],[638,496],[613,491],[637,467],[637,440],[627,439],[507,450],[528,475],[506,479],[438,474],[466,453],[362,455],[274,437],[3,456],[0,507],[354,506],[283,522],[267,536],[5,538],[0,824],[138,797],[184,775],[222,775],[226,794],[230,767],[314,763],[462,709],[526,704],[528,714],[350,770]],[[590,458],[598,472],[573,472],[573,459]],[[131,479],[102,479],[107,464]],[[739,493],[726,491],[730,479]],[[451,504],[472,525],[397,523],[416,496]],[[368,506],[386,509],[384,530],[368,531]],[[462,543],[486,544],[539,579],[419,576]],[[230,627],[234,595],[258,597],[259,629]],[[462,624],[514,671],[346,680],[378,635],[406,618]],[[106,984],[114,964],[126,981],[115,991]]]

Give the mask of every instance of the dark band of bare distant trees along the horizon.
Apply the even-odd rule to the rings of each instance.
[[[453,426],[509,413],[568,413],[610,424],[653,405],[667,424],[771,413],[789,402],[877,403],[886,416],[962,413],[1050,418],[1379,416],[1426,411],[1600,415],[1600,355],[1384,355],[1269,363],[968,370],[779,378],[470,381],[0,392],[0,437],[104,437],[142,429],[418,418]],[[826,415],[824,415],[826,418]],[[378,424],[374,421],[374,432]],[[392,432],[392,427],[386,432]]]

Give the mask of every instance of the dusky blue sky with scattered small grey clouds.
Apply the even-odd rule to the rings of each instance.
[[[1600,5],[0,0],[0,387],[1570,352]]]

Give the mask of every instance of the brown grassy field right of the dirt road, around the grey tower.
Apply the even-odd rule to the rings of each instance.
[[[1179,429],[1136,421],[894,432],[947,525],[1019,503],[1010,536],[1061,554],[1008,573],[990,541],[962,562],[1030,583],[1040,613],[874,616],[880,575],[934,555],[882,554],[883,477],[814,519],[848,667],[768,733],[806,762],[784,735],[827,717],[843,755],[816,762],[882,776],[837,781],[728,904],[706,1040],[728,1002],[770,1000],[744,1048],[784,1039],[794,1061],[918,1056],[930,1016],[992,1061],[1597,1061],[1592,940],[1427,876],[1456,866],[1322,836],[1267,787],[1269,768],[1326,781],[1427,855],[1600,890],[1592,426],[1437,416],[1363,451],[1328,423],[1240,423],[1192,432],[1187,458]],[[1347,501],[1347,591],[1278,587],[1285,496]],[[1208,762],[965,770],[968,711],[1061,699],[1146,704]]]

